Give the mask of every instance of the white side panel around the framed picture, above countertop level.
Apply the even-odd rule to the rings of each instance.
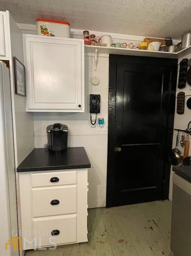
[[[10,14],[9,14],[10,15]],[[13,106],[13,131],[15,145],[16,167],[27,157],[34,148],[33,113],[26,112],[25,97],[15,94],[13,57],[22,63],[23,39],[22,33],[10,15],[10,80]]]

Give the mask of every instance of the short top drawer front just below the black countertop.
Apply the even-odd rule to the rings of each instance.
[[[77,171],[58,171],[30,174],[32,187],[77,184]]]

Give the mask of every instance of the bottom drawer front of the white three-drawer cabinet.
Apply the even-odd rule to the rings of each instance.
[[[54,246],[52,243],[55,243],[56,245],[76,243],[77,216],[70,215],[59,218],[33,219],[33,230],[36,231],[36,236],[40,237],[40,246]],[[53,230],[56,230],[56,233],[59,232],[59,234],[51,235]]]

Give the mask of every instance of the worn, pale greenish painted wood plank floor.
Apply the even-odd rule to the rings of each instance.
[[[172,256],[171,202],[88,210],[88,242],[25,256]]]

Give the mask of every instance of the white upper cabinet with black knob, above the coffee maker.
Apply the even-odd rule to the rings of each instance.
[[[23,35],[26,111],[84,112],[84,40]]]

